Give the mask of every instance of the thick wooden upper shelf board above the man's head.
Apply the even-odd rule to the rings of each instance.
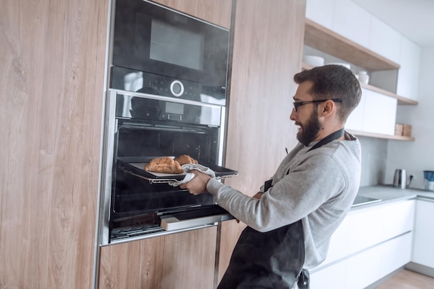
[[[352,42],[351,40],[306,18],[304,44],[336,58],[363,67],[367,71],[395,70],[399,64]]]

